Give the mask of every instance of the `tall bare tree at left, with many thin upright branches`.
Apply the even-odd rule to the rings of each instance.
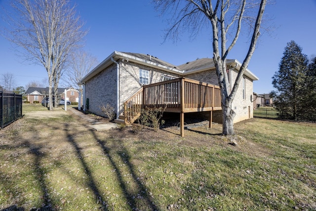
[[[27,60],[44,66],[52,110],[52,87],[58,87],[69,53],[81,46],[87,32],[81,30],[83,23],[69,0],[14,0],[12,6],[16,14],[11,17],[19,18],[11,20],[6,37],[24,49]]]

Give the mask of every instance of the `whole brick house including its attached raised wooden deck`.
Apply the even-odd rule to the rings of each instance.
[[[231,59],[227,60],[227,66],[230,84],[234,84],[241,64]],[[251,100],[256,80],[258,78],[246,69],[233,102],[237,113],[235,123],[253,117]],[[213,121],[222,121],[213,59],[203,58],[175,66],[148,54],[114,51],[78,84],[83,85],[84,108],[100,116],[104,116],[100,106],[109,104],[115,108],[117,118],[125,116],[126,122],[127,110],[146,101],[146,106],[167,104],[166,111],[180,113],[180,119],[186,112],[211,111]],[[143,94],[139,94],[140,91]]]

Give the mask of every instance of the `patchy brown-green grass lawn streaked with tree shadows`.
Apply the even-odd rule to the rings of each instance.
[[[173,123],[95,131],[69,110],[23,109],[0,130],[0,211],[316,210],[316,124],[250,119],[236,136],[215,124],[182,138]]]

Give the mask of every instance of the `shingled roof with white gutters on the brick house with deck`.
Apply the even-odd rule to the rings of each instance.
[[[153,67],[166,72],[178,74],[180,76],[186,76],[192,73],[197,73],[206,70],[215,69],[214,61],[210,58],[197,59],[192,62],[187,62],[183,65],[173,65],[168,62],[162,61],[157,57],[151,56],[149,54],[141,53],[129,53],[129,52],[119,52],[114,51],[105,60],[103,60],[98,66],[91,70],[86,76],[84,76],[78,84],[85,84],[88,80],[93,78],[95,75],[115,63],[118,59],[131,61],[134,63],[142,64],[148,67]],[[241,64],[236,59],[229,59],[226,61],[227,65],[235,67],[237,70],[240,69]],[[259,80],[250,70],[246,69],[244,75],[249,77],[251,80]]]

